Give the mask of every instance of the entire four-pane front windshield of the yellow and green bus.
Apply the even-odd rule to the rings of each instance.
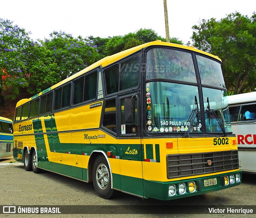
[[[199,55],[196,55],[196,62],[202,91],[198,90],[200,86],[192,53],[167,48],[152,48],[148,51],[146,80],[150,81],[146,82],[147,132],[231,132],[227,92],[219,90],[225,89],[220,63]],[[214,82],[209,78],[214,78]],[[202,92],[203,102],[199,92]],[[200,110],[200,104],[204,106],[203,110]],[[191,118],[192,114],[196,116]],[[205,118],[204,122],[202,117]]]

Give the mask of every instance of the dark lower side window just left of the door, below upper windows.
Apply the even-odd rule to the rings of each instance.
[[[116,98],[106,100],[103,126],[116,133]]]

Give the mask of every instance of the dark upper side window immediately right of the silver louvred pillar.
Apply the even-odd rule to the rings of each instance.
[[[118,74],[118,65],[112,66],[111,68],[105,70],[107,94],[118,92]]]

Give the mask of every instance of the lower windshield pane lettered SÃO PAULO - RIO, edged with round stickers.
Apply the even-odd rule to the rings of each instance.
[[[193,132],[201,132],[201,119],[189,122],[195,110],[195,96],[198,99],[198,87],[170,82],[149,82],[147,95],[147,131],[148,132],[184,132],[192,126]],[[198,106],[199,107],[199,106]],[[200,109],[200,108],[199,108]]]

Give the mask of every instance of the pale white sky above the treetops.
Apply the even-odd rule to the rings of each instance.
[[[163,0],[2,0],[0,18],[13,21],[33,40],[50,38],[53,31],[72,36],[124,36],[140,28],[165,35]],[[240,12],[251,17],[256,0],[167,0],[170,38],[192,42],[192,26],[200,20]]]

